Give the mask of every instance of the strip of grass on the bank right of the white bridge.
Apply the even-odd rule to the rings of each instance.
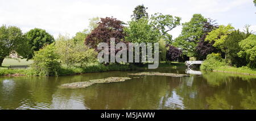
[[[256,74],[256,69],[248,68],[247,66],[243,66],[240,68],[236,68],[233,66],[220,66],[215,71],[225,71],[225,72],[234,72],[234,73],[247,73],[247,74]]]

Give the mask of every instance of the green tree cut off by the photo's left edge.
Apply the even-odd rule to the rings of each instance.
[[[22,53],[20,48],[27,49],[24,46],[27,43],[20,28],[15,26],[0,27],[0,66],[5,57],[9,56],[12,51]]]

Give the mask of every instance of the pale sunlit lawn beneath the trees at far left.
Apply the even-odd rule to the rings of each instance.
[[[15,60],[15,59],[5,59],[5,60],[3,60],[2,66],[10,66],[10,65],[30,65],[30,64],[32,64],[32,63],[33,63],[32,60],[27,61],[27,59],[19,59],[19,60]]]

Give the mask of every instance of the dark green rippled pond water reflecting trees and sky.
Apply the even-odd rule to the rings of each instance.
[[[147,70],[148,71],[148,70]],[[147,72],[136,71],[136,72]],[[153,72],[185,73],[182,68]],[[66,77],[0,77],[0,109],[256,109],[256,77],[207,73],[190,77],[105,72]],[[130,81],[60,89],[61,84],[106,77]]]

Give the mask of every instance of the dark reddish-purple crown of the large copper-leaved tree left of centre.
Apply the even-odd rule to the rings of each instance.
[[[101,18],[98,26],[86,37],[85,44],[97,49],[99,43],[110,44],[110,38],[121,41],[125,37],[123,34],[123,22],[115,18]]]

